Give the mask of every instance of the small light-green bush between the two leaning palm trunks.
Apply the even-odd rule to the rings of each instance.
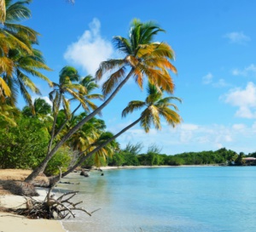
[[[58,167],[61,168],[62,172],[67,171],[67,167],[72,160],[73,151],[68,148],[61,148],[53,156],[53,158],[48,162],[47,167],[44,170],[44,173],[48,176],[57,175],[60,173]]]

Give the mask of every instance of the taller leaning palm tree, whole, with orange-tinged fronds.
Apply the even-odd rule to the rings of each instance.
[[[143,88],[144,79],[147,78],[148,82],[154,84],[156,88],[162,88],[167,93],[172,93],[174,84],[169,71],[177,72],[170,61],[174,59],[174,53],[166,42],[153,42],[154,36],[160,31],[164,30],[153,22],[142,23],[139,20],[133,20],[128,38],[113,38],[116,48],[124,53],[125,57],[123,59],[109,59],[103,61],[98,71],[96,71],[96,80],[101,80],[104,74],[113,71],[102,88],[106,100],[96,110],[77,123],[77,125],[55,144],[55,147],[48,153],[44,161],[26,178],[26,182],[32,182],[39,173],[44,172],[48,161],[55,155],[55,152],[61,145],[64,144],[73,133],[78,131],[85,122],[88,122],[93,116],[99,114],[116,96],[125,83],[128,82],[131,76],[134,77],[141,88]],[[127,69],[128,73],[126,72]]]

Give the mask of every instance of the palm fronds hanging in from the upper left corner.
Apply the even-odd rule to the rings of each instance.
[[[5,13],[2,14],[3,25],[0,27],[0,99],[2,102],[7,101],[9,105],[15,105],[20,90],[32,107],[28,89],[34,93],[40,92],[28,75],[42,78],[49,85],[51,82],[38,71],[49,71],[49,67],[44,64],[41,52],[32,48],[33,44],[38,43],[38,32],[17,24],[20,20],[30,18],[31,12],[25,4],[31,0],[3,2],[0,4],[5,7]]]

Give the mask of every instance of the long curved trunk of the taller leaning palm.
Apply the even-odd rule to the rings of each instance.
[[[96,110],[91,112],[90,115],[84,117],[83,120],[81,120],[77,125],[75,125],[69,132],[67,132],[62,137],[60,142],[55,144],[55,147],[47,153],[47,156],[44,158],[44,161],[42,161],[42,163],[40,163],[39,166],[35,168],[32,171],[32,173],[25,179],[27,183],[31,183],[32,180],[36,178],[39,173],[44,172],[44,168],[46,167],[49,160],[52,158],[52,156],[55,155],[56,151],[61,147],[61,145],[64,144],[67,141],[67,139],[69,139],[73,135],[73,133],[77,132],[79,128],[84,125],[85,122],[88,122],[92,117],[96,116],[96,114],[98,114],[104,107],[106,107],[110,103],[110,101],[115,97],[119,90],[125,85],[126,82],[128,82],[129,78],[133,74],[133,71],[134,68],[131,68],[129,74],[125,77],[125,79],[122,82],[119,83],[119,86],[113,91],[109,98],[104,103],[102,103],[102,105],[100,105]]]

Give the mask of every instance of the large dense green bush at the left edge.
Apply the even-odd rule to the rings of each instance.
[[[17,125],[0,129],[0,167],[37,167],[45,156],[49,138],[44,122],[20,118]]]

